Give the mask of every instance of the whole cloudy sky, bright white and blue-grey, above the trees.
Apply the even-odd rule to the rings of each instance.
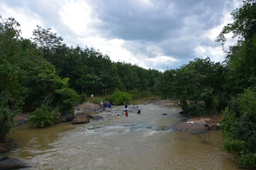
[[[23,38],[39,25],[67,46],[99,49],[112,61],[159,71],[194,58],[225,58],[216,37],[239,0],[0,0],[0,15],[20,23]],[[234,45],[226,36],[225,48]]]

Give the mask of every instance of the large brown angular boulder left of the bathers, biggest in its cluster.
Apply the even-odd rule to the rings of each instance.
[[[72,124],[89,123],[90,118],[91,118],[91,115],[83,111],[81,108],[76,107]]]

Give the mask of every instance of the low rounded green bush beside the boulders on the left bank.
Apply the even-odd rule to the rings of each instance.
[[[50,108],[45,105],[41,105],[34,112],[30,113],[28,123],[33,125],[35,128],[43,128],[48,125],[52,125],[59,120],[58,108],[51,111]]]

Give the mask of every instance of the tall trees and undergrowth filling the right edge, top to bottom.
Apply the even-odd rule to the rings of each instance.
[[[240,167],[251,168],[256,166],[256,1],[243,1],[231,15],[234,22],[227,24],[216,40],[224,47],[225,34],[233,33],[232,38],[237,38],[237,43],[225,51],[224,88],[233,100],[223,113],[222,135],[224,149],[236,153]]]

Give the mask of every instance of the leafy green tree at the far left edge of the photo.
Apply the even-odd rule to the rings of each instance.
[[[25,72],[20,68],[19,23],[0,15],[0,142],[9,141],[13,118],[23,103]]]

